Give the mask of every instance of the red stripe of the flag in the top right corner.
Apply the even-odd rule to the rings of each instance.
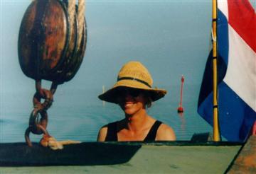
[[[228,23],[256,52],[256,13],[248,0],[228,0]]]

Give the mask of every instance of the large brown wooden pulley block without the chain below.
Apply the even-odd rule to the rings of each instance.
[[[75,15],[70,26],[67,4],[59,0],[31,2],[18,35],[18,59],[23,73],[32,79],[57,83],[72,79],[85,54],[85,25],[83,30],[78,48],[78,21]]]

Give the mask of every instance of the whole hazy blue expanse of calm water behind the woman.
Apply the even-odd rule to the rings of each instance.
[[[24,141],[33,110],[34,82],[18,64],[18,31],[31,1],[1,5],[0,142]],[[124,63],[142,62],[154,86],[167,95],[153,103],[149,115],[173,127],[178,140],[212,132],[197,113],[203,70],[210,51],[210,1],[88,1],[87,49],[74,79],[58,86],[48,109],[48,132],[58,140],[96,141],[103,125],[124,117],[118,105],[97,95],[116,80]],[[15,13],[13,13],[15,11]],[[195,20],[196,19],[196,20]],[[180,77],[185,76],[182,115]],[[31,134],[32,141],[41,135]]]

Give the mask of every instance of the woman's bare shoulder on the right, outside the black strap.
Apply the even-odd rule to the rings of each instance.
[[[172,129],[169,125],[162,123],[159,126],[156,134],[156,141],[175,141],[176,136],[174,129]]]

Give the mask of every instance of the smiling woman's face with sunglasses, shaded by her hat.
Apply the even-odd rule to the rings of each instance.
[[[126,115],[134,115],[145,109],[145,97],[142,90],[124,88],[118,92],[119,106]]]

